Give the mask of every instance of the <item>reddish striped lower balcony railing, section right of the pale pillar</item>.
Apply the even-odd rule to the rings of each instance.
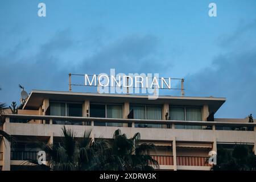
[[[210,166],[207,157],[177,156],[177,166]]]

